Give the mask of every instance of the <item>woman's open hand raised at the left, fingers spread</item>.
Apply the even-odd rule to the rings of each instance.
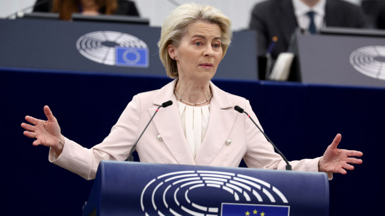
[[[36,138],[33,145],[45,145],[53,148],[56,155],[60,155],[64,146],[64,137],[55,116],[52,115],[48,106],[44,106],[44,113],[47,116],[47,121],[36,119],[31,116],[25,116],[25,120],[33,125],[22,123],[21,127],[27,131],[23,134],[30,138]]]

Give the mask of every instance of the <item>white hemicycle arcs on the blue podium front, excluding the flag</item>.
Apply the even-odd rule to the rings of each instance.
[[[214,188],[215,191],[220,190],[216,191],[218,193],[224,191],[221,194],[229,194],[230,198],[232,197],[232,200],[236,202],[270,201],[275,203],[276,198],[279,197],[279,202],[288,203],[286,197],[276,187],[254,177],[215,171],[181,171],[160,175],[143,188],[140,196],[142,211],[146,216],[149,216],[150,212],[156,212],[159,216],[169,215],[169,213],[181,216],[179,213],[184,212],[194,216],[218,216],[220,214],[218,206],[198,205],[197,201],[189,199],[189,193],[194,193],[193,191],[197,188],[204,191]],[[210,192],[207,192],[207,196],[209,195]],[[173,199],[166,200],[166,197]],[[215,199],[218,202],[225,201],[222,196],[215,196]],[[165,209],[169,212],[160,211]]]

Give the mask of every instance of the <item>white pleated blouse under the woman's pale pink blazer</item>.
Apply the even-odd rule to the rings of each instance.
[[[183,132],[190,146],[191,154],[195,158],[209,126],[210,104],[195,107],[188,106],[180,101],[177,101],[177,103]]]

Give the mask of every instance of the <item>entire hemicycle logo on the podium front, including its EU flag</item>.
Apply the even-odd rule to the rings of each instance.
[[[145,216],[290,216],[289,201],[270,183],[203,170],[157,176],[143,188],[140,206]]]

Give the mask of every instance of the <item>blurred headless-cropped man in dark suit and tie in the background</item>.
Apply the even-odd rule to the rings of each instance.
[[[273,59],[287,52],[297,27],[317,32],[322,27],[365,28],[360,7],[343,0],[267,0],[256,4],[250,29],[258,34],[258,55],[264,56],[274,36],[278,37],[271,52]]]

